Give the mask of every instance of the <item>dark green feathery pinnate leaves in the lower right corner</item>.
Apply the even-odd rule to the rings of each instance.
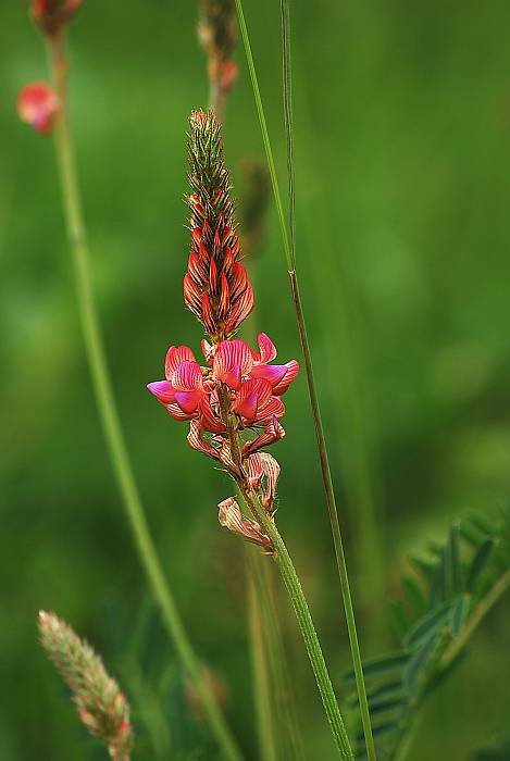
[[[401,647],[363,664],[380,761],[403,759],[425,698],[463,654],[471,633],[510,587],[510,510],[497,520],[470,515],[443,544],[411,558],[402,600],[394,604]],[[349,704],[358,707],[352,672]],[[357,758],[364,759],[358,727]],[[499,757],[497,757],[499,758]]]

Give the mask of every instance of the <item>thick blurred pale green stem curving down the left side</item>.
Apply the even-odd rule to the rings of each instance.
[[[222,748],[224,758],[229,761],[240,761],[241,754],[225,723],[225,719],[203,681],[200,662],[189,643],[164,576],[154,542],[149,532],[147,519],[133,476],[126,445],[124,442],[112,385],[107,369],[91,286],[89,253],[66,113],[66,62],[63,55],[63,42],[64,40],[61,37],[50,40],[49,42],[51,73],[61,99],[60,115],[54,125],[57,159],[62,186],[67,237],[76,280],[79,316],[104,438],[135,546],[138,550],[139,560],[160,606],[167,633],[190,682],[200,697],[211,729],[214,733],[219,746]]]

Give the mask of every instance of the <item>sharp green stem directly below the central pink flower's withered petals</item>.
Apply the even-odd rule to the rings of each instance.
[[[301,629],[301,635],[304,640],[304,646],[307,648],[308,657],[313,669],[315,681],[321,694],[324,710],[326,712],[327,720],[335,739],[335,744],[338,750],[338,754],[344,761],[352,761],[353,754],[350,747],[349,738],[347,736],[346,728],[344,726],[344,721],[341,719],[340,710],[338,708],[338,702],[333,689],[332,681],[329,678],[329,673],[327,671],[326,663],[324,661],[324,656],[322,653],[321,645],[313,625],[313,620],[310,614],[310,609],[308,607],[307,598],[301,587],[298,574],[294,567],[294,563],[290,559],[288,550],[282,539],[278,529],[273,520],[268,517],[265,510],[259,503],[257,496],[253,491],[246,485],[246,483],[239,484],[242,492],[242,497],[250,509],[251,513],[256,520],[265,528],[268,536],[273,542],[274,547],[274,560],[278,566],[278,571],[282,574],[283,582],[290,597],[296,617],[298,620],[299,628]]]

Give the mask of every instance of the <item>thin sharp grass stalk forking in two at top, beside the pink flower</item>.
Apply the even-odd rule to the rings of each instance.
[[[276,175],[276,169],[273,159],[273,151],[271,148],[271,140],[268,130],[268,124],[265,121],[265,113],[262,103],[262,98],[260,95],[259,82],[257,77],[257,70],[254,66],[253,55],[251,52],[251,45],[248,35],[248,28],[245,21],[245,15],[242,11],[241,0],[236,0],[236,8],[239,18],[239,27],[242,36],[242,41],[245,45],[246,57],[248,61],[248,67],[250,71],[251,84],[253,87],[253,95],[257,104],[257,111],[259,115],[259,122],[262,130],[262,139],[264,142],[264,148],[268,157],[268,164],[271,174],[271,182],[273,186],[273,191],[275,196],[276,209],[278,213],[279,225],[282,229],[282,237],[284,242],[284,253],[287,262],[287,271],[290,280],[290,289],[293,296],[293,303],[296,312],[296,320],[298,324],[299,338],[301,342],[301,350],[304,359],[304,369],[307,373],[307,382],[310,396],[310,404],[312,408],[313,422],[315,427],[316,444],[319,450],[319,458],[321,462],[322,479],[324,485],[324,491],[326,496],[327,510],[329,514],[329,522],[332,526],[333,540],[335,546],[335,554],[338,566],[338,574],[340,578],[341,592],[344,598],[344,608],[346,612],[347,628],[349,633],[349,643],[352,656],[352,662],[356,674],[356,685],[358,690],[358,698],[360,703],[361,720],[363,724],[363,732],[365,737],[366,753],[369,761],[375,761],[375,746],[372,736],[372,727],[370,722],[369,704],[366,700],[366,690],[364,686],[363,669],[361,663],[361,653],[358,643],[358,633],[356,628],[354,612],[352,607],[352,599],[350,594],[349,578],[347,573],[347,563],[344,552],[344,545],[340,533],[340,525],[338,521],[338,511],[336,507],[335,492],[333,488],[333,479],[331,475],[329,461],[327,456],[326,441],[324,436],[324,427],[321,417],[321,411],[319,406],[319,398],[315,388],[315,380],[313,374],[313,365],[310,353],[310,346],[308,340],[307,327],[304,322],[304,315],[302,310],[299,280],[296,267],[296,237],[295,237],[295,182],[294,182],[294,128],[293,128],[293,108],[291,108],[291,65],[290,65],[290,37],[289,37],[289,9],[288,2],[286,0],[281,0],[281,13],[282,13],[282,30],[283,30],[283,76],[284,76],[284,109],[285,109],[285,126],[287,135],[287,164],[288,164],[288,182],[289,182],[289,226],[290,236],[287,232],[287,224],[285,221],[284,208],[282,203],[282,197],[279,192],[279,185]]]

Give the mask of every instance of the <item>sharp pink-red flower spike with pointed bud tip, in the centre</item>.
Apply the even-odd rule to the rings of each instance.
[[[165,379],[148,388],[174,420],[189,421],[190,446],[221,463],[241,490],[254,491],[273,516],[279,465],[262,449],[285,436],[282,397],[299,365],[273,364],[276,348],[265,333],[258,350],[233,337],[253,308],[253,291],[240,262],[221,127],[212,112],[202,111],[191,114],[190,125],[191,252],[184,299],[208,334],[204,361],[187,346],[171,346]],[[220,522],[271,549],[260,525],[242,516],[233,498],[221,503]]]

